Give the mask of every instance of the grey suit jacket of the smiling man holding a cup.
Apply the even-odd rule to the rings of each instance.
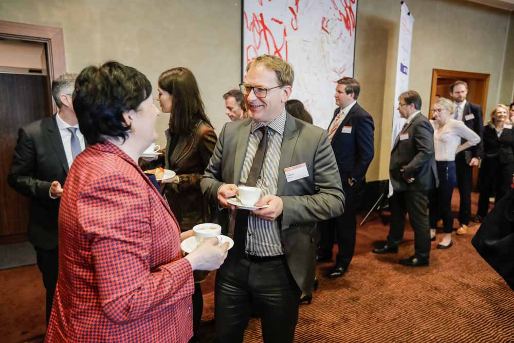
[[[212,204],[224,183],[238,184],[252,119],[226,123],[201,179],[200,187]],[[305,163],[309,173],[287,182],[284,168]],[[301,290],[310,294],[316,266],[316,222],[343,212],[341,178],[326,130],[287,114],[282,138],[277,195],[282,198],[280,234],[291,270]],[[237,234],[237,228],[236,232]]]

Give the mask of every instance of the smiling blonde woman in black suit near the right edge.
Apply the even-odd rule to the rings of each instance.
[[[494,189],[494,203],[510,189],[514,172],[514,131],[509,108],[496,105],[491,119],[484,125],[484,158],[480,167],[479,208],[475,221],[482,222],[489,209],[489,195]]]

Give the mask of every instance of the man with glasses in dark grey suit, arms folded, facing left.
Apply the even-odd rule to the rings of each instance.
[[[396,137],[391,151],[389,177],[393,185],[390,197],[391,224],[387,243],[373,249],[375,254],[398,252],[403,239],[406,212],[414,230],[414,255],[399,263],[407,266],[428,266],[430,257],[430,228],[428,222],[428,193],[437,187],[434,130],[430,121],[419,111],[421,97],[415,91],[402,93],[398,111],[407,119]]]

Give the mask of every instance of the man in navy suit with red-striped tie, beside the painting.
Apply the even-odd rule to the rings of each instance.
[[[328,138],[336,156],[346,204],[342,215],[320,224],[319,260],[332,260],[334,231],[337,229],[339,253],[336,264],[328,272],[329,278],[342,276],[352,261],[359,195],[375,153],[373,118],[357,103],[359,92],[357,80],[342,78],[337,81],[335,98],[339,107],[328,126]]]

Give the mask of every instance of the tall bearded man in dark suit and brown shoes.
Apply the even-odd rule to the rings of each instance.
[[[461,197],[458,207],[458,222],[460,226],[457,234],[465,234],[468,231],[469,218],[471,216],[471,187],[473,186],[473,167],[479,165],[479,158],[484,155],[482,120],[482,107],[466,101],[468,84],[464,81],[455,81],[450,85],[450,96],[455,104],[455,112],[452,118],[462,120],[468,128],[480,136],[480,143],[461,151],[455,156],[455,169],[457,172],[457,187]],[[462,143],[466,140],[463,139]]]

